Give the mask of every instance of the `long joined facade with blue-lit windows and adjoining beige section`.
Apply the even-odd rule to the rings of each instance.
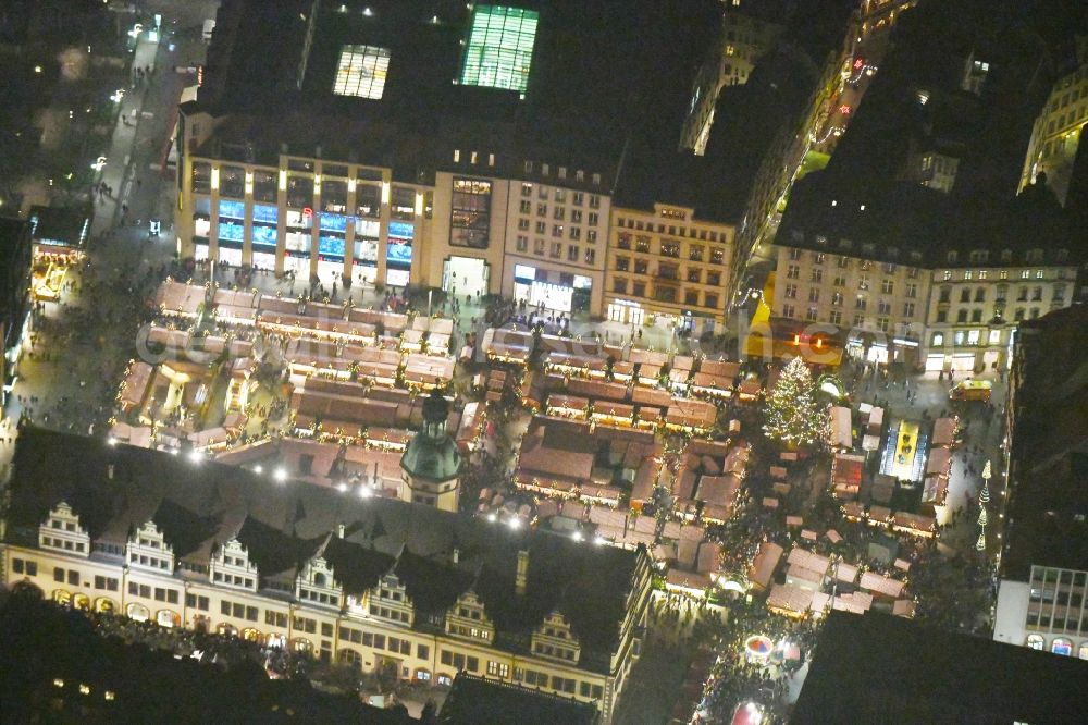
[[[413,285],[603,314],[611,196],[601,171],[540,160],[510,170],[508,155],[452,148],[409,183],[393,167],[323,159],[320,148],[247,161],[198,135],[213,123],[198,113],[183,124],[183,143],[197,149],[181,164],[183,259],[326,287]]]

